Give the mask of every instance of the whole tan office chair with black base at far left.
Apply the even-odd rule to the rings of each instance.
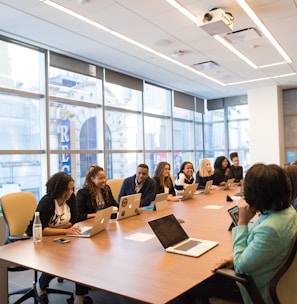
[[[33,218],[33,214],[36,210],[37,202],[33,193],[31,192],[15,192],[3,195],[1,198],[3,216],[6,221],[8,236],[7,243],[19,241],[28,238],[25,236],[25,231],[29,222]],[[8,267],[8,271],[25,271],[28,268],[25,267]],[[36,282],[38,272],[34,270],[34,282],[32,287],[24,288],[9,292],[8,296],[23,294],[14,304],[20,304],[29,298],[34,298],[34,303],[37,304],[36,298]],[[70,301],[73,302],[74,297],[72,292],[58,290],[58,289],[47,289],[47,293],[63,294],[70,296]]]

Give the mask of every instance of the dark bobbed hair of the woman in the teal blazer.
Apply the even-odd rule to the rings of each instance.
[[[286,209],[291,200],[289,178],[278,165],[255,164],[246,173],[244,196],[245,201],[261,213]]]

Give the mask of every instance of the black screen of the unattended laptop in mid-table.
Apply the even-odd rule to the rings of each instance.
[[[165,249],[189,238],[173,214],[148,223]]]

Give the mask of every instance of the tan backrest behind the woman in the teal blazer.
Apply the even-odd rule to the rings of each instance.
[[[272,303],[295,303],[297,299],[297,233],[289,252],[270,281]]]

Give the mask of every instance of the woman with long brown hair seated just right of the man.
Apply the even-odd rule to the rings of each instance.
[[[178,197],[175,195],[172,179],[170,177],[170,164],[167,162],[159,162],[155,173],[156,194],[168,193],[167,200],[177,202]]]

